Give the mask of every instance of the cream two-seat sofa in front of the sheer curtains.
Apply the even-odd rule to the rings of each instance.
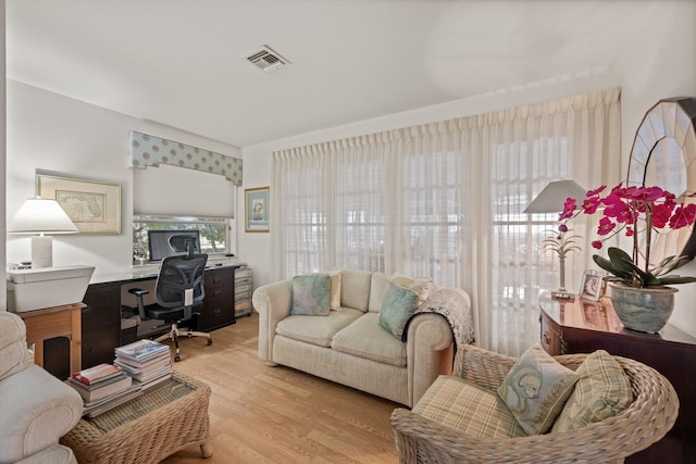
[[[412,406],[438,375],[451,373],[455,339],[473,341],[470,299],[461,289],[421,286],[424,300],[402,341],[380,325],[393,276],[352,269],[333,274],[334,310],[327,315],[291,314],[298,277],[253,292],[261,359]]]

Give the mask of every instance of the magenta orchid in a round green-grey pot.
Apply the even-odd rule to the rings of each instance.
[[[611,274],[609,281],[614,311],[627,328],[647,333],[660,330],[674,308],[674,293],[669,285],[696,281],[696,277],[670,273],[688,261],[684,256],[668,256],[657,265],[650,264],[650,243],[654,233],[692,226],[696,204],[680,204],[675,196],[659,187],[623,187],[619,184],[601,196],[606,186],[587,192],[581,208],[568,198],[559,218],[566,221],[580,213],[601,215],[597,235],[592,242],[599,250],[604,242],[621,231],[633,242],[632,254],[610,247],[609,259],[593,255],[595,263]],[[639,236],[644,235],[643,239]],[[643,247],[641,247],[643,243]]]

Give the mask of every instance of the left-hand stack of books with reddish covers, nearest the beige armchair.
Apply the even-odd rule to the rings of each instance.
[[[89,417],[107,412],[140,392],[140,386],[134,385],[121,367],[105,363],[75,373],[66,383],[83,397],[83,415]]]

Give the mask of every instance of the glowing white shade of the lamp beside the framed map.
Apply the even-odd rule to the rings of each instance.
[[[75,234],[77,226],[55,200],[29,198],[8,224],[10,234]]]

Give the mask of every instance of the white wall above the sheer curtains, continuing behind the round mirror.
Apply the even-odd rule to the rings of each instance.
[[[649,15],[651,23],[636,25],[631,49],[604,74],[566,76],[521,86],[510,91],[451,101],[417,111],[245,147],[243,148],[244,187],[268,185],[273,188],[271,154],[274,150],[486,113],[617,86],[622,88],[622,166],[625,172],[633,137],[645,112],[663,98],[696,97],[696,28],[694,28],[696,2],[656,2],[652,8],[654,14]],[[272,204],[271,208],[273,208]],[[271,230],[273,230],[273,224],[271,224]],[[253,267],[253,286],[268,284],[274,262],[271,256],[271,235],[245,234],[241,228],[238,243],[239,249],[246,251],[247,262]],[[696,267],[696,264],[694,266]],[[696,298],[696,284],[680,288],[682,289],[678,293],[680,297],[686,297],[693,290],[693,298]],[[672,323],[696,336],[696,311],[675,311]]]

